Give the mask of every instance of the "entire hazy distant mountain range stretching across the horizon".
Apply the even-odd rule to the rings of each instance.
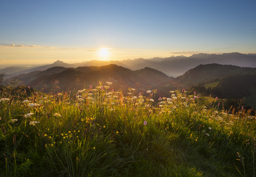
[[[0,69],[0,73],[5,73],[5,78],[11,78],[23,73],[30,73],[31,71],[43,71],[52,67],[66,67],[77,68],[85,66],[106,66],[110,64],[122,66],[131,70],[143,69],[145,67],[153,68],[162,71],[169,77],[178,77],[186,73],[189,69],[193,69],[198,65],[205,65],[211,63],[218,63],[221,65],[234,65],[239,67],[256,67],[256,54],[242,54],[242,53],[224,53],[224,54],[194,54],[190,57],[178,56],[169,58],[152,58],[152,59],[127,59],[122,61],[99,61],[91,60],[81,63],[65,63],[57,60],[51,65],[44,65],[39,67],[8,67]]]

